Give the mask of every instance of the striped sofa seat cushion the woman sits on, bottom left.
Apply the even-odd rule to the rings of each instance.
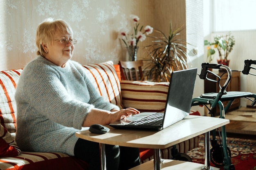
[[[22,152],[16,157],[2,157],[0,170],[87,170],[88,163],[63,153]]]

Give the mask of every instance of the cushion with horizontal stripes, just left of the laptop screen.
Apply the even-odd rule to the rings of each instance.
[[[163,112],[168,82],[121,80],[121,95],[125,108],[133,107],[141,112]]]

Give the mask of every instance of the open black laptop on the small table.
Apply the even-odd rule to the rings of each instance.
[[[196,75],[197,68],[171,73],[164,113],[143,112],[111,123],[110,126],[159,131],[182,120],[189,115],[191,109]]]

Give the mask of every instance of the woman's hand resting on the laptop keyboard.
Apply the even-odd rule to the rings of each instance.
[[[139,114],[139,110],[135,108],[126,108],[126,109],[121,109],[117,111],[111,110],[108,120],[109,120],[109,123],[112,123],[135,114]]]

